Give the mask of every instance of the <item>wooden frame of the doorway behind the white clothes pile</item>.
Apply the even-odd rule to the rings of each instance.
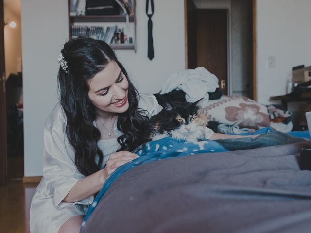
[[[187,33],[187,1],[184,0],[184,17],[185,17],[185,69],[188,69],[188,33]],[[252,93],[251,99],[257,101],[257,51],[256,51],[256,3],[257,0],[252,0]],[[228,25],[230,26],[230,25]],[[229,49],[229,48],[228,48]],[[228,67],[229,69],[229,67]],[[229,78],[229,76],[228,76]],[[228,82],[229,83],[229,82]]]

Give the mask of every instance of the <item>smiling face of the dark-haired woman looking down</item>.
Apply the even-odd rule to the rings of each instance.
[[[98,114],[124,113],[128,107],[128,82],[114,61],[88,81],[88,97]]]

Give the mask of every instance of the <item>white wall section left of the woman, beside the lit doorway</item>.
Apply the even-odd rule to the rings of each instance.
[[[43,125],[57,101],[57,57],[68,37],[65,0],[21,1],[24,171],[42,175]]]

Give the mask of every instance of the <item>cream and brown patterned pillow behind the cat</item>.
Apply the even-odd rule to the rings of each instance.
[[[259,129],[270,125],[267,107],[244,96],[222,96],[202,108],[208,121],[242,128]]]

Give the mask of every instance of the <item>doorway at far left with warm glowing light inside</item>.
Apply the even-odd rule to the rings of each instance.
[[[0,183],[24,176],[20,0],[1,0]],[[3,98],[2,98],[3,97]]]

